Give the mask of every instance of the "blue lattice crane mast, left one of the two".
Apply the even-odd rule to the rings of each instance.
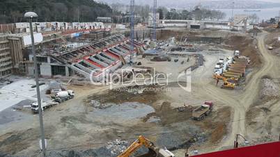
[[[130,0],[130,63],[134,53],[134,0]]]

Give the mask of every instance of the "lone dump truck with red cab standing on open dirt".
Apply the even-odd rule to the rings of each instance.
[[[213,110],[213,103],[210,101],[205,101],[204,104],[199,106],[199,108],[196,108],[192,111],[192,119],[195,120],[202,120],[205,116],[210,115],[210,113]]]

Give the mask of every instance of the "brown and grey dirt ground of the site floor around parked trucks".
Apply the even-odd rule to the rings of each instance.
[[[187,34],[229,37],[216,46],[196,43],[196,47],[203,49],[197,53],[203,55],[204,62],[191,74],[192,92],[173,82],[182,70],[195,63],[195,58],[191,57],[188,63],[180,64],[180,61],[186,60],[182,56],[176,57],[180,60],[178,63],[174,63],[173,59],[170,63],[155,63],[148,58],[137,58],[142,66],[154,67],[157,72],[176,74],[164,88],[154,85],[150,88],[155,90],[131,92],[110,90],[108,86],[68,85],[69,89],[75,90],[75,99],[44,112],[48,154],[116,156],[106,148],[107,142],[122,139],[130,144],[139,135],[144,135],[159,147],[166,147],[176,156],[183,156],[186,148],[191,154],[196,149],[203,153],[231,148],[237,133],[254,142],[273,140],[279,133],[279,99],[259,101],[260,78],[270,76],[279,85],[280,60],[265,47],[264,40],[268,33],[260,33],[256,39],[224,31],[194,31]],[[251,72],[242,88],[223,90],[212,79],[213,68],[219,58],[231,56],[235,48],[251,58]],[[104,104],[104,108],[96,108],[93,105],[96,101]],[[184,104],[199,106],[203,101],[213,101],[215,106],[212,114],[201,122],[191,119],[191,113],[176,110]],[[31,120],[22,119],[4,125],[0,133],[1,153],[17,156],[40,154],[38,115],[33,115]]]

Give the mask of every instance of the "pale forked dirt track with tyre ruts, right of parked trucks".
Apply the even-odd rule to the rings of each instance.
[[[258,97],[258,88],[260,78],[269,72],[272,72],[272,68],[279,60],[270,54],[265,47],[265,36],[268,33],[262,33],[258,36],[258,49],[260,51],[263,66],[254,72],[251,76],[251,80],[246,85],[244,90],[222,90],[212,85],[210,81],[205,81],[205,75],[201,74],[200,82],[201,89],[200,93],[205,94],[207,97],[215,101],[221,102],[224,106],[231,106],[233,109],[233,115],[230,123],[230,131],[226,138],[221,141],[219,147],[228,147],[233,145],[235,135],[240,133],[247,135],[245,118],[249,106],[254,103],[254,99]],[[205,72],[205,68],[203,71]]]

